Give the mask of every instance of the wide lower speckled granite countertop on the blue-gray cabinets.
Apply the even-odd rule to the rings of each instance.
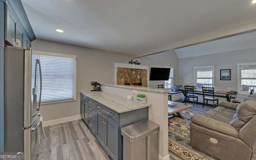
[[[97,102],[118,113],[128,112],[151,106],[151,104],[148,103],[141,104],[134,99],[128,100],[126,97],[117,96],[107,92],[80,91],[80,93],[85,94],[86,96],[92,98],[93,100],[96,100]]]

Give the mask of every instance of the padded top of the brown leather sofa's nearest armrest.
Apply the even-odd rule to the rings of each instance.
[[[212,118],[208,118],[203,115],[192,116],[191,120],[193,123],[203,126],[205,128],[208,128],[210,130],[215,130],[217,132],[221,132],[221,133],[238,138],[238,131],[236,130],[236,128],[226,123],[214,120]]]

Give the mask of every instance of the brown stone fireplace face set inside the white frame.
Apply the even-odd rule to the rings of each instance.
[[[142,87],[148,87],[147,70],[134,68],[117,68],[116,84],[142,83]]]

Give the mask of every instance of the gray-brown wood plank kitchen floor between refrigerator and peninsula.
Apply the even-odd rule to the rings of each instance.
[[[44,127],[36,160],[111,160],[82,120]]]

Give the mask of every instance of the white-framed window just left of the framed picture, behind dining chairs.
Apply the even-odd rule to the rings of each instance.
[[[214,86],[214,66],[194,67],[194,85],[213,87]]]

